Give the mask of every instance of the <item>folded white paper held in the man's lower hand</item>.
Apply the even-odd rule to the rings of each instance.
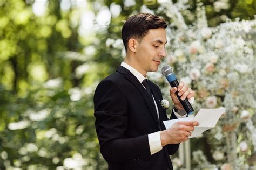
[[[200,109],[195,117],[185,117],[164,121],[164,125],[166,129],[169,129],[174,123],[179,121],[197,121],[199,123],[199,126],[194,126],[194,131],[189,137],[194,138],[199,136],[204,131],[214,128],[220,116],[225,112],[225,110],[225,108]]]

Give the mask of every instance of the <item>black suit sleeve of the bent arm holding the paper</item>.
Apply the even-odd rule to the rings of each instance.
[[[94,96],[95,126],[100,152],[107,162],[149,159],[148,135],[127,138],[129,109],[125,95],[116,82],[99,83]]]

